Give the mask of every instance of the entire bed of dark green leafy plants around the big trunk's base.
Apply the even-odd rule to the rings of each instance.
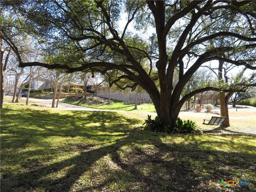
[[[182,120],[180,118],[174,124],[174,127],[166,124],[163,119],[158,116],[155,119],[148,115],[148,118],[142,124],[145,125],[144,130],[153,132],[167,132],[167,133],[194,133],[196,131],[196,122],[191,120]]]

